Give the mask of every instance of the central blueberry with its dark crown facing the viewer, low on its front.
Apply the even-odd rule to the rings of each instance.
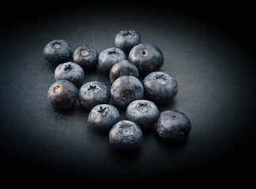
[[[143,96],[143,85],[137,77],[121,76],[112,83],[111,98],[122,108],[126,108],[130,102],[141,99]]]

